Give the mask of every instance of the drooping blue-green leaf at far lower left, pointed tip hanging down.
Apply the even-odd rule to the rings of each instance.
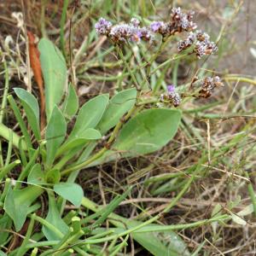
[[[26,215],[32,202],[44,192],[42,188],[28,186],[26,189],[13,190],[9,187],[4,200],[3,209],[15,223],[15,230],[18,232],[26,220]]]

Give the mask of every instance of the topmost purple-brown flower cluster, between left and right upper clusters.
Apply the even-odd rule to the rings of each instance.
[[[181,9],[173,8],[171,20],[169,22],[153,21],[150,24],[150,30],[155,33],[160,33],[163,37],[174,35],[177,32],[189,32],[196,28],[192,21],[194,12],[189,11],[183,13]]]

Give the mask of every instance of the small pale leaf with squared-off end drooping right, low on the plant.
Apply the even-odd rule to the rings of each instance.
[[[61,195],[67,201],[73,203],[75,207],[79,207],[81,205],[84,191],[76,183],[58,183],[54,186],[55,193]]]

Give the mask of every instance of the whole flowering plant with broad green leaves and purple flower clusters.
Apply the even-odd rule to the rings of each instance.
[[[180,8],[174,8],[167,22],[157,20],[148,26],[141,26],[136,18],[127,24],[115,25],[104,18],[98,20],[95,25],[97,34],[107,36],[112,42],[130,74],[132,84],[131,88],[119,90],[112,97],[102,94],[91,98],[81,108],[73,84],[67,81],[67,67],[61,51],[49,39],[42,38],[39,41],[46,127],[40,130],[37,98],[21,88],[15,88],[19,101],[15,101],[11,94],[7,96],[20,125],[21,136],[0,124],[0,135],[9,143],[6,161],[0,171],[0,180],[3,182],[0,195],[0,245],[5,247],[10,242],[9,230],[13,226],[15,232],[25,236],[20,247],[15,247],[10,255],[24,255],[27,252],[36,255],[39,249],[44,251],[41,255],[70,255],[74,251],[78,255],[91,255],[98,252],[97,244],[104,241],[112,241],[108,248],[111,254],[117,248],[121,250],[125,247],[130,234],[154,255],[166,255],[171,251],[175,253],[172,255],[179,253],[167,247],[158,237],[159,233],[155,233],[160,230],[160,225],[149,225],[160,218],[162,213],[168,212],[172,204],[144,223],[129,220],[111,212],[131,189],[116,196],[107,207],[99,207],[84,197],[83,189],[74,182],[79,172],[86,172],[86,168],[91,166],[159,150],[177,133],[182,118],[182,112],[177,108],[182,105],[183,97],[188,96],[188,93],[189,96],[208,97],[216,87],[223,85],[218,77],[207,77],[194,79],[189,89],[183,86],[183,90],[187,91],[178,90],[177,84],[169,84],[162,94],[153,88],[150,101],[143,97],[143,91],[148,91],[148,79],[154,72],[151,64],[173,36],[181,33],[188,35],[188,38],[177,43],[177,55],[189,50],[189,55],[195,54],[201,58],[217,51],[216,44],[210,41],[207,33],[195,30],[192,19],[193,12],[183,13]],[[124,47],[143,41],[156,45],[159,40],[160,49],[153,51],[152,57],[145,61],[143,67],[136,69],[139,73],[144,68],[146,73],[145,80],[139,83],[134,69],[131,70],[130,63],[125,59]],[[153,107],[148,108],[148,104]],[[144,109],[146,105],[147,109]],[[23,112],[26,119],[23,118]],[[67,125],[73,120],[72,131],[67,133]],[[11,157],[13,152],[16,160]],[[16,179],[9,178],[12,172],[18,174]],[[42,210],[43,194],[44,198],[48,197],[48,205],[44,206],[46,213]],[[75,210],[66,209],[69,203],[73,204]],[[96,213],[84,216],[79,208],[81,204]],[[108,232],[104,226],[101,228],[107,218],[118,229]],[[209,221],[221,218],[223,216]],[[139,233],[141,228],[143,233]],[[151,236],[152,232],[154,236]],[[172,231],[168,234],[180,242],[182,246],[179,250],[183,255],[189,255],[183,241]],[[120,237],[124,237],[124,240],[119,241]]]

